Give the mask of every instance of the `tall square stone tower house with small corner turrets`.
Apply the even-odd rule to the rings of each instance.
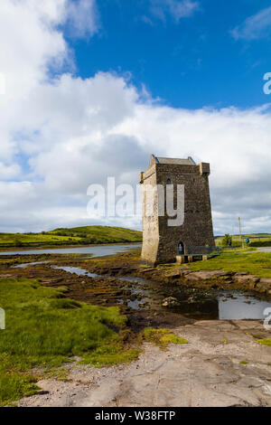
[[[210,164],[196,165],[192,157],[188,159],[162,158],[151,156],[148,169],[140,173],[140,184],[144,186],[167,184],[173,186],[173,201],[176,205],[177,184],[184,185],[184,221],[182,225],[169,226],[169,217],[158,213],[159,191],[154,192],[150,201],[143,191],[143,248],[142,260],[147,264],[158,264],[176,260],[178,254],[204,254],[215,246],[213,237],[210,190]],[[182,186],[183,188],[183,186]],[[166,197],[164,196],[166,199]],[[154,213],[146,210],[150,205]],[[162,203],[165,203],[164,199]],[[178,205],[179,207],[179,205]]]

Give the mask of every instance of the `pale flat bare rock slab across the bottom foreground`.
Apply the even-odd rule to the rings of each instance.
[[[189,344],[166,351],[147,344],[137,361],[111,368],[68,365],[70,382],[39,382],[49,393],[19,405],[271,406],[271,347],[252,336],[271,337],[260,321],[200,321],[173,331]]]

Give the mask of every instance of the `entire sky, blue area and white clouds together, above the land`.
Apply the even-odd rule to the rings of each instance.
[[[0,44],[0,231],[140,229],[87,191],[151,154],[210,163],[215,234],[271,231],[270,0],[5,0]]]

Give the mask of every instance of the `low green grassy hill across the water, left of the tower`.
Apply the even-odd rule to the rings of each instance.
[[[86,226],[41,233],[0,233],[0,248],[141,242],[142,232],[121,227]]]

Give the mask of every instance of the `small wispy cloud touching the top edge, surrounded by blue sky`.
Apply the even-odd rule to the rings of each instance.
[[[199,8],[199,3],[192,0],[151,0],[151,12],[158,19],[165,21],[170,14],[176,22],[191,16]]]

